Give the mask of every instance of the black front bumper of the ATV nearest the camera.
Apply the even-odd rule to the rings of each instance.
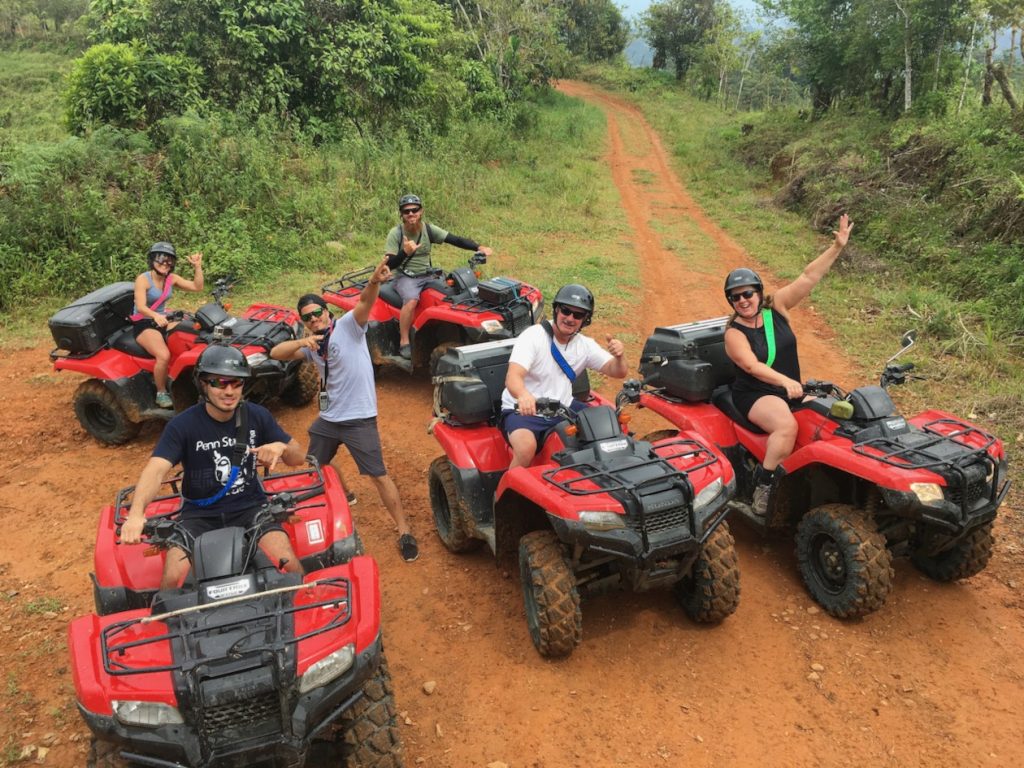
[[[221,723],[215,733],[201,732],[191,718],[185,722],[153,728],[128,725],[116,715],[98,715],[79,703],[79,712],[98,739],[118,744],[121,757],[132,765],[154,768],[301,768],[310,743],[327,737],[326,729],[362,695],[364,684],[381,663],[381,636],[340,677],[323,687],[298,694],[297,681],[291,693],[279,692],[281,706],[270,718],[251,714],[256,696],[240,700],[234,713],[218,713]],[[272,702],[271,702],[272,703]],[[249,708],[249,711],[246,711]],[[273,709],[272,707],[270,708]],[[274,717],[276,718],[273,722]],[[214,718],[208,719],[213,720]],[[259,727],[254,724],[260,720]],[[273,722],[268,728],[267,722]],[[212,730],[212,728],[211,728]],[[211,744],[214,744],[211,746]]]

